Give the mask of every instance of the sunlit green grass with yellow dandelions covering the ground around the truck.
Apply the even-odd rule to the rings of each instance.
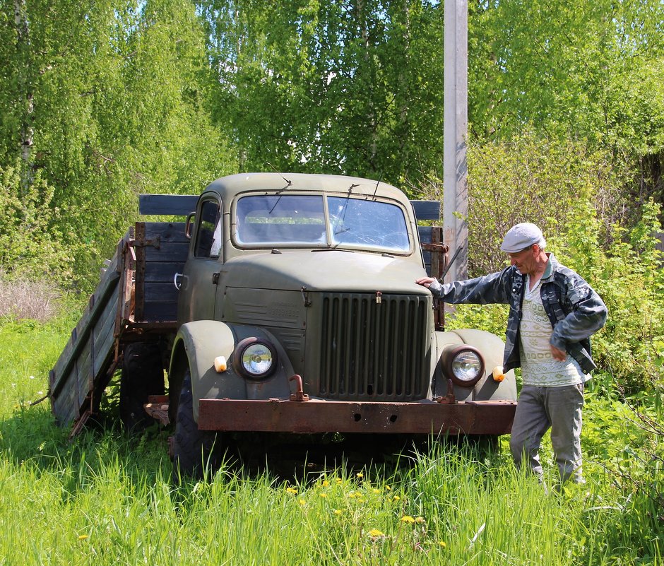
[[[488,456],[441,443],[408,466],[290,482],[224,466],[174,488],[167,431],[69,442],[48,401],[30,406],[73,322],[0,328],[0,565],[664,563],[663,440],[608,380],[587,397],[588,483],[563,493],[518,473],[506,439]],[[552,470],[548,445],[543,459]]]

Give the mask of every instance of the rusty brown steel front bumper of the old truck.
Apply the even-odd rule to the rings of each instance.
[[[287,401],[201,399],[201,430],[256,432],[372,432],[384,434],[504,435],[516,402]]]

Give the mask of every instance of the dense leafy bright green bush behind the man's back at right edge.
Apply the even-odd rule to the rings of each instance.
[[[600,219],[591,206],[569,218],[558,238],[559,257],[581,273],[609,309],[605,328],[593,339],[598,365],[634,392],[664,382],[664,271],[656,249],[660,207],[646,203],[629,231],[616,227],[607,249],[598,242]]]

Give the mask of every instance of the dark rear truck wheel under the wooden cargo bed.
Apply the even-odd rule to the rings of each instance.
[[[143,432],[155,421],[143,409],[149,395],[164,394],[164,369],[158,343],[134,342],[124,348],[120,377],[120,419],[125,430]]]

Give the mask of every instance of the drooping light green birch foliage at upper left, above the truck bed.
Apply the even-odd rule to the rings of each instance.
[[[69,0],[1,9],[0,163],[48,206],[78,288],[137,218],[140,192],[198,193],[232,160],[210,118],[213,76],[188,0]]]

